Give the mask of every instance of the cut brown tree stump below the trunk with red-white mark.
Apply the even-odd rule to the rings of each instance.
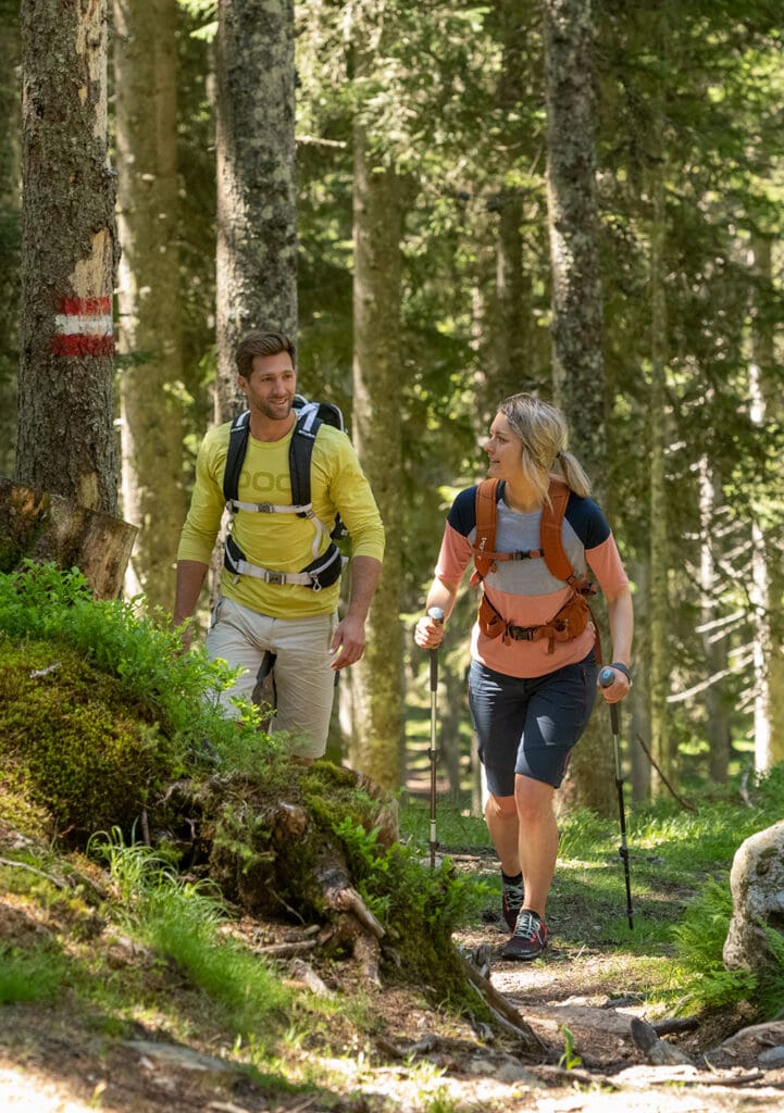
[[[138,528],[61,495],[0,476],[0,572],[27,558],[78,568],[96,599],[115,599]]]

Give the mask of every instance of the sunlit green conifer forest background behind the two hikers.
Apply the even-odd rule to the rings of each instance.
[[[343,408],[388,528],[334,750],[362,731],[361,692],[392,692],[400,760],[381,779],[414,768],[427,661],[411,628],[444,515],[483,474],[497,403],[533,391],[567,412],[633,581],[636,797],[784,760],[780,4],[572,2],[582,22],[565,29],[553,2],[311,0],[288,22],[278,6],[277,39],[267,7],[109,4],[118,512],[141,528],[128,594],[171,607],[195,454],[234,404],[232,329],[276,323],[296,335],[300,388]],[[0,472],[23,477],[16,0],[0,0]],[[270,73],[280,102],[258,93]],[[288,109],[291,173],[270,155],[285,154]],[[585,161],[586,145],[589,179],[578,167],[561,183],[559,209],[553,168]],[[244,159],[245,193],[227,185]],[[282,181],[295,249],[275,239]],[[596,268],[572,268],[564,299],[569,221]],[[472,768],[476,602],[465,587],[440,654],[455,792]]]

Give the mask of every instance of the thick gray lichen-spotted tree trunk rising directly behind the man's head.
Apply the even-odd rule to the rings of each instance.
[[[245,407],[234,351],[253,328],[296,337],[294,2],[219,0],[216,420]]]

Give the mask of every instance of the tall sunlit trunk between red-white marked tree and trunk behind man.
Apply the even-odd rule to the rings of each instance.
[[[176,30],[176,0],[115,0],[122,509],[140,526],[126,590],[160,607],[186,512]]]

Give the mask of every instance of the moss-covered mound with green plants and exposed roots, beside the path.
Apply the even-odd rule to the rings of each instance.
[[[144,839],[253,916],[321,924],[371,976],[378,957],[460,999],[468,880],[423,868],[366,777],[297,764],[256,709],[224,718],[225,682],[167,621],[94,601],[78,572],[0,574],[0,821],[77,847],[100,830]]]

